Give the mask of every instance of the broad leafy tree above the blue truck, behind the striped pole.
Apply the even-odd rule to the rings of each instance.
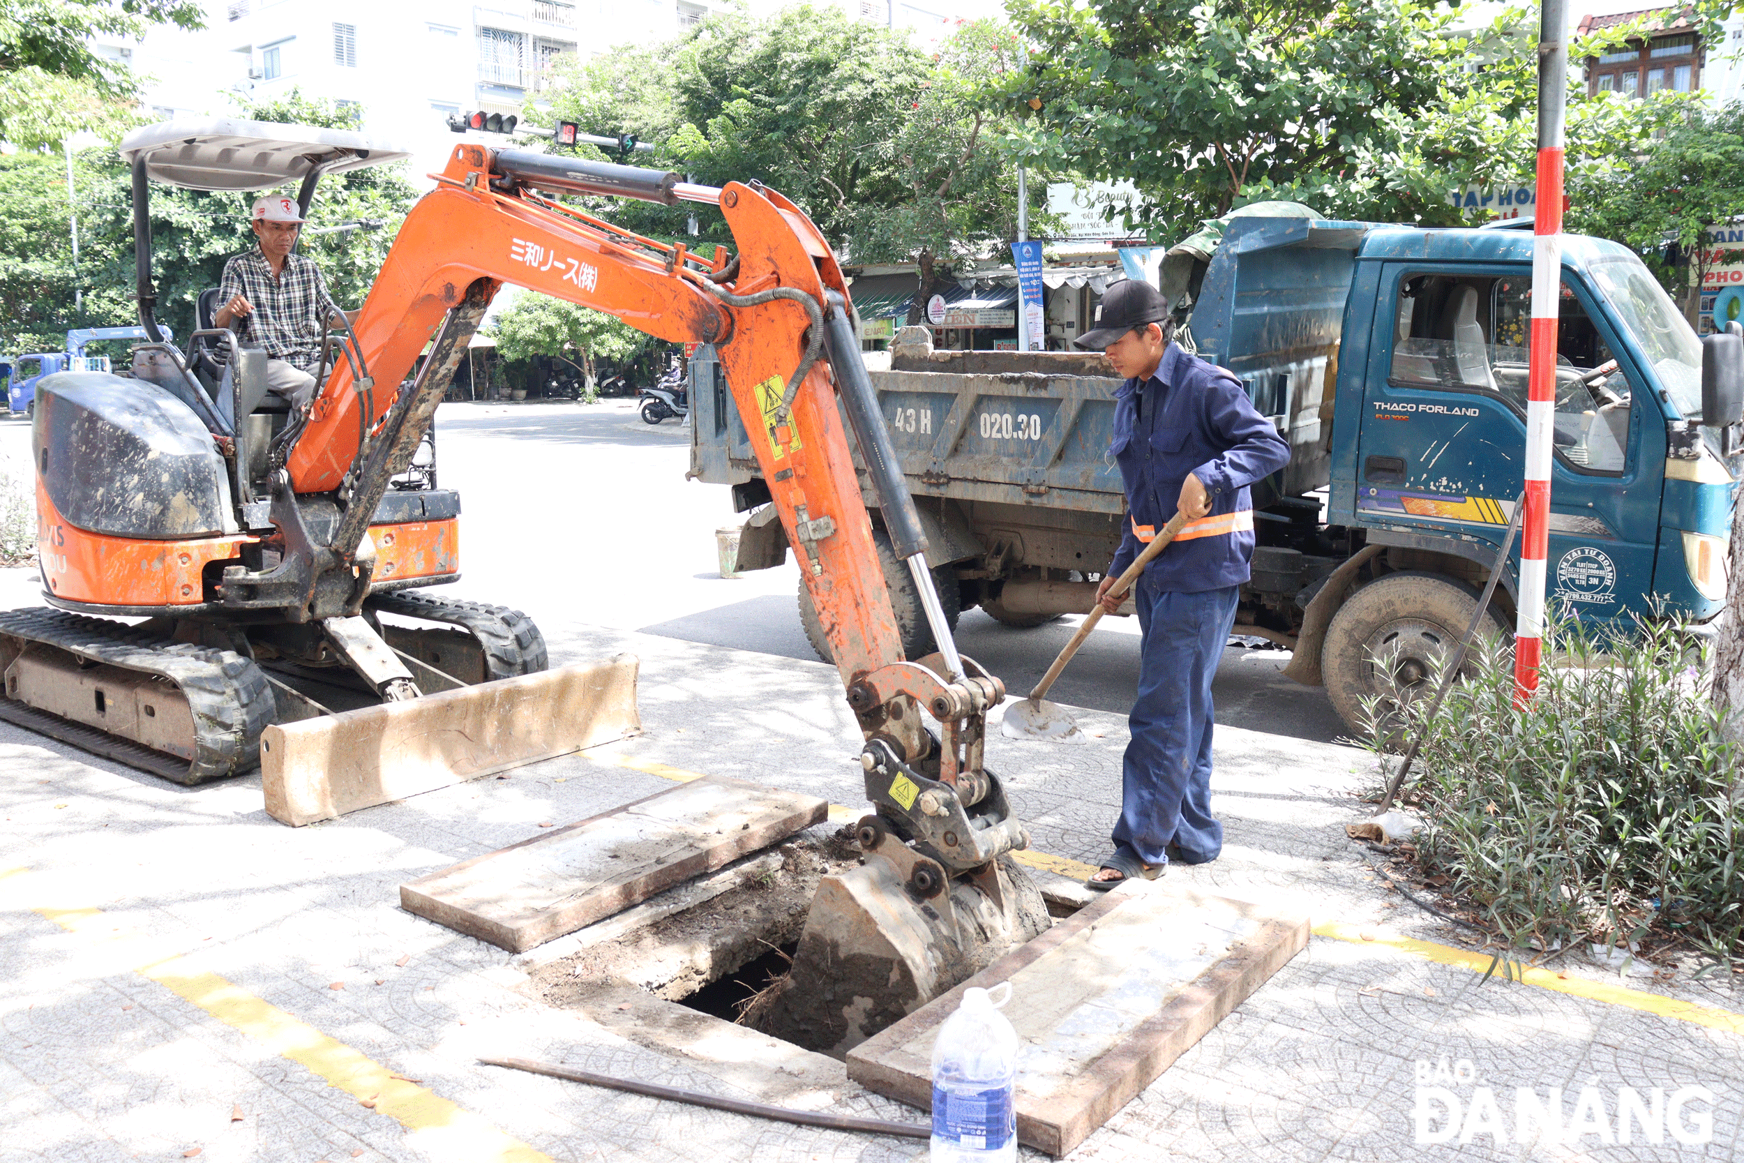
[[[1460,31],[1428,0],[1013,0],[1038,45],[1013,96],[1038,150],[1130,180],[1128,223],[1174,241],[1254,201],[1332,218],[1453,225],[1448,190],[1533,181],[1536,14]],[[1639,26],[1578,40],[1571,58]],[[1627,164],[1692,94],[1587,98],[1570,80],[1570,169]]]

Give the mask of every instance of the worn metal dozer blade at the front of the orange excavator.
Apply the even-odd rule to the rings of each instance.
[[[501,678],[274,724],[260,736],[267,814],[302,826],[642,729],[637,657]]]

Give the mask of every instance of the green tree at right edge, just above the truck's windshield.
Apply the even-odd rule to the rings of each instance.
[[[1634,166],[1573,178],[1568,227],[1641,251],[1693,321],[1723,255],[1707,228],[1744,218],[1744,106],[1697,106]]]

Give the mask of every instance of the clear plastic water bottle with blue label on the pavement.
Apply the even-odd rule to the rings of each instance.
[[[999,1013],[1010,999],[1010,982],[968,989],[963,1004],[938,1030],[931,1163],[1017,1160],[1017,1030]]]

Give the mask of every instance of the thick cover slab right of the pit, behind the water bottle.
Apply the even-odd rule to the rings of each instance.
[[[848,1051],[848,1078],[931,1109],[938,1027],[971,985],[1012,982],[1017,1137],[1062,1156],[1308,945],[1308,919],[1135,882]]]

